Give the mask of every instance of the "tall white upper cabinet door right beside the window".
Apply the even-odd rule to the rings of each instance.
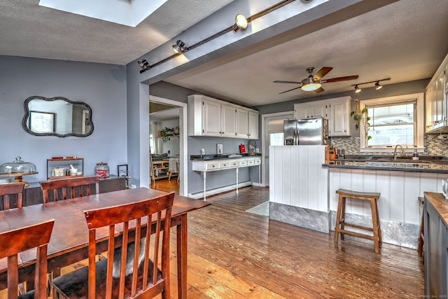
[[[349,109],[350,97],[330,100],[328,117],[328,136],[350,136]]]

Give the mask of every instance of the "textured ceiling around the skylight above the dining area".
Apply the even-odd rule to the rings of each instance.
[[[0,55],[123,65],[230,2],[169,0],[133,28],[39,6],[38,0],[0,0]]]

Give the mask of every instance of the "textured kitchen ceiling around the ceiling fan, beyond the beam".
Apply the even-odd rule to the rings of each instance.
[[[323,79],[359,75],[353,81],[325,83],[325,91],[318,95],[391,77],[383,83],[386,88],[432,77],[448,53],[447,32],[447,0],[400,0],[297,39],[271,41],[276,46],[251,55],[223,57],[165,81],[248,106],[315,97],[315,92],[300,88],[279,95],[299,85],[273,83],[301,81],[307,78],[308,67],[316,71],[333,67]]]

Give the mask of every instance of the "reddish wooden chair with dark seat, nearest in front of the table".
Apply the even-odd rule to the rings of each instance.
[[[55,278],[52,281],[55,298],[153,298],[162,294],[162,298],[169,299],[169,230],[173,200],[174,192],[140,202],[84,211],[89,229],[88,266]],[[148,226],[151,229],[146,229]],[[118,234],[118,229],[123,232]],[[96,262],[96,242],[106,238],[108,258]]]

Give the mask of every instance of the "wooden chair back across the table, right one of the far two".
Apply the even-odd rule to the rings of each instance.
[[[99,176],[79,176],[70,179],[41,181],[43,201],[66,200],[67,198],[90,195],[90,185],[95,186],[95,194],[99,193]],[[70,197],[67,197],[69,190]],[[51,194],[51,196],[50,196]]]

